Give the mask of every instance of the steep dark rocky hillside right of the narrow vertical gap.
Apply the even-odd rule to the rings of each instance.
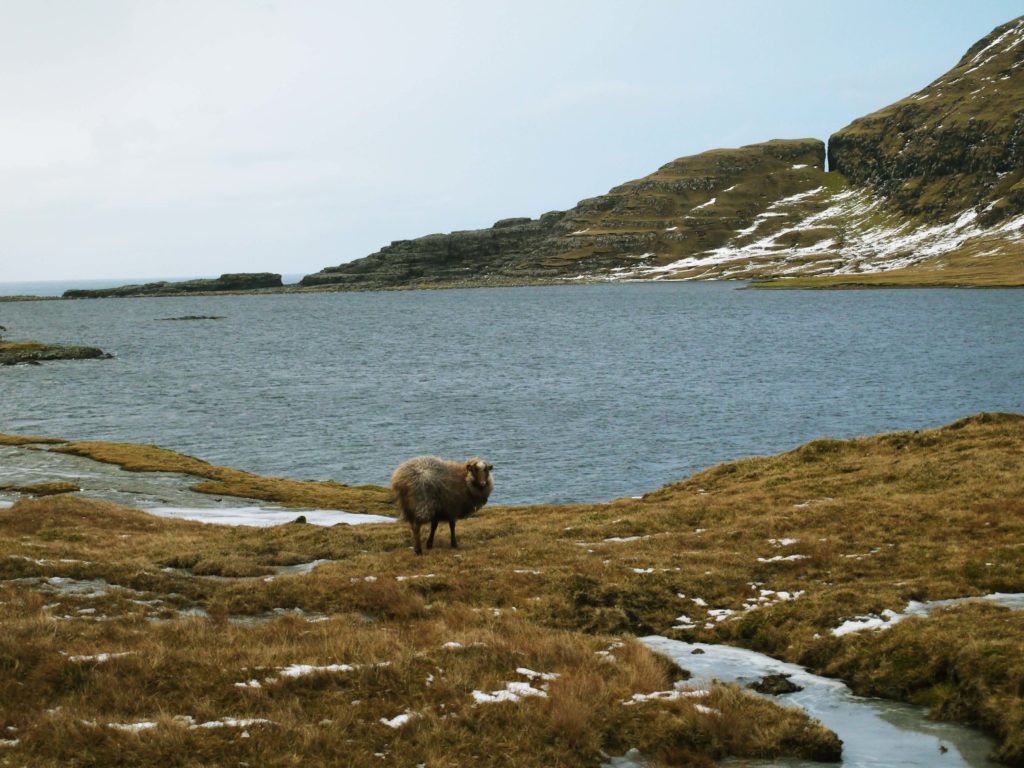
[[[927,221],[1024,212],[1024,18],[938,80],[828,140],[829,167]]]

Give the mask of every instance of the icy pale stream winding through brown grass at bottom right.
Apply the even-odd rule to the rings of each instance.
[[[843,739],[843,766],[998,766],[987,757],[994,745],[991,739],[964,726],[930,721],[923,708],[855,696],[839,680],[819,677],[803,667],[743,648],[685,643],[658,635],[641,640],[651,650],[664,653],[693,673],[693,680],[689,682],[695,687],[707,685],[712,680],[746,685],[766,675],[790,675],[790,679],[804,689],[779,696],[776,700],[802,708],[834,730]],[[730,765],[803,767],[821,764],[792,760],[732,761]]]

